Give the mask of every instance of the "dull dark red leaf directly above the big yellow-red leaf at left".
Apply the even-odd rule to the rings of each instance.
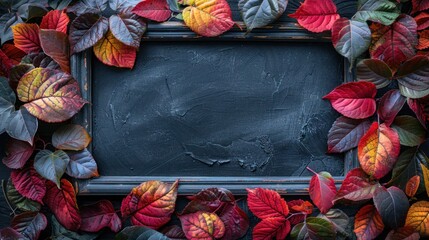
[[[57,62],[61,70],[70,73],[70,44],[67,34],[56,30],[40,30],[43,52]]]

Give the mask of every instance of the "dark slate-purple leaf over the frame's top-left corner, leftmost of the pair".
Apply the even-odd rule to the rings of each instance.
[[[82,52],[94,46],[109,30],[109,21],[98,14],[85,13],[70,25],[70,46],[72,53]]]

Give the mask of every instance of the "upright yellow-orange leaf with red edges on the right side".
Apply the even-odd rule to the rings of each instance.
[[[384,123],[374,122],[359,141],[358,158],[368,175],[380,179],[392,170],[399,151],[398,134]]]

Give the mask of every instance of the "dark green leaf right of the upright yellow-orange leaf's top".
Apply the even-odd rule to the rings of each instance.
[[[398,116],[392,128],[398,133],[401,144],[404,146],[415,147],[425,141],[426,130],[415,117]]]

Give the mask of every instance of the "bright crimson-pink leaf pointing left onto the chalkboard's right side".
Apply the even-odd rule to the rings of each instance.
[[[331,102],[332,107],[346,117],[364,119],[374,114],[377,89],[370,82],[351,82],[336,87],[323,99]]]

